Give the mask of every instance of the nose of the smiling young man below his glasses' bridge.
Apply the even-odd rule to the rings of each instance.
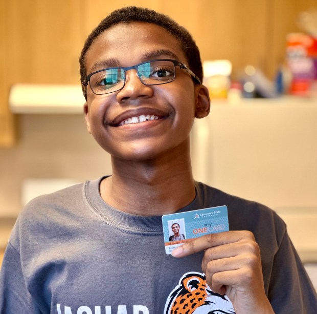
[[[125,76],[125,85],[117,94],[118,102],[124,102],[128,99],[148,98],[153,95],[152,87],[141,82],[137,70],[128,70]]]

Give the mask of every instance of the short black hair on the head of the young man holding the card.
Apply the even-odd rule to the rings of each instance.
[[[94,40],[111,26],[119,23],[129,22],[156,24],[163,27],[170,34],[172,34],[178,41],[180,48],[182,48],[187,58],[188,67],[199,77],[200,81],[202,81],[203,73],[199,49],[189,31],[183,26],[178,25],[172,18],[165,14],[157,13],[151,9],[130,6],[115,10],[110,13],[87,37],[79,58],[81,82],[87,76],[85,68],[85,56],[90,46],[92,46],[94,43]]]

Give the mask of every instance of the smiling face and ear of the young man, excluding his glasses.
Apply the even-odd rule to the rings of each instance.
[[[177,40],[162,27],[117,24],[96,38],[86,55],[86,70],[131,67],[153,59],[187,64]],[[195,115],[208,114],[206,97],[205,88],[195,86],[179,67],[173,82],[153,86],[144,85],[131,69],[120,91],[96,95],[87,86],[87,129],[104,150],[121,159],[148,160],[183,146],[188,150]]]

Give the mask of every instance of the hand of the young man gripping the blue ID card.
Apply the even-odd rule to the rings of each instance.
[[[227,295],[237,314],[274,313],[265,295],[260,248],[253,233],[208,234],[172,251],[184,257],[205,250],[201,268],[210,288]]]

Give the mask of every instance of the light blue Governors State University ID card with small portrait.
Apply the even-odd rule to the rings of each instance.
[[[192,238],[229,231],[227,206],[162,216],[165,253]]]

